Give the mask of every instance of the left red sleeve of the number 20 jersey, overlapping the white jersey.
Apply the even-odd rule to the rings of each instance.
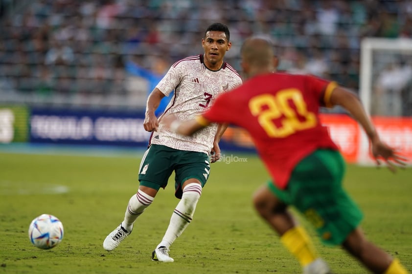
[[[215,103],[202,114],[202,117],[208,122],[233,123],[233,116],[235,115],[231,107],[233,104],[228,103],[230,102],[231,93],[232,92],[228,92],[220,95]]]

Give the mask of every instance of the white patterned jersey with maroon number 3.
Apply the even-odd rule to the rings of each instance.
[[[156,86],[166,96],[175,91],[162,116],[174,114],[180,120],[193,119],[205,112],[219,94],[240,84],[242,79],[228,63],[212,71],[203,63],[203,55],[186,57],[174,63]],[[217,124],[210,124],[193,136],[183,136],[167,130],[161,117],[158,131],[153,132],[150,144],[207,154],[213,148]]]

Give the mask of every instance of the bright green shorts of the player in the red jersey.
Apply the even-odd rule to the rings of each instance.
[[[342,188],[344,161],[338,151],[319,149],[298,163],[285,190],[269,189],[314,225],[324,244],[340,245],[363,215]]]

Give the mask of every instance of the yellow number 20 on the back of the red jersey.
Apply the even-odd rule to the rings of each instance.
[[[290,102],[296,109],[291,107]],[[317,124],[315,114],[307,110],[302,93],[295,88],[280,90],[275,95],[255,96],[249,101],[249,109],[270,137],[284,138]],[[299,120],[298,115],[303,119]],[[275,124],[274,120],[278,118],[280,120]]]

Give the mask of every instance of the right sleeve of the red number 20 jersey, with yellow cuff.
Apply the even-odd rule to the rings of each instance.
[[[327,81],[315,76],[306,76],[309,90],[311,93],[319,99],[320,105],[326,107],[332,107],[330,103],[330,95],[335,87],[338,86],[336,82]]]

